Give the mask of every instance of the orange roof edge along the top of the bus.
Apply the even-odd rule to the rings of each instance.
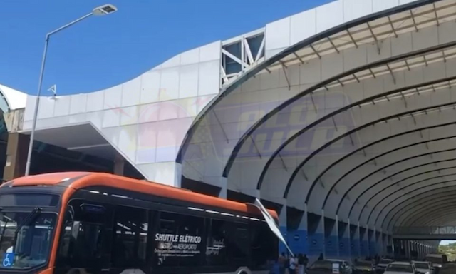
[[[12,186],[67,186],[75,190],[81,188],[89,188],[90,186],[108,186],[123,189],[126,191],[136,191],[147,193],[155,196],[172,198],[179,201],[187,201],[190,203],[214,206],[227,210],[234,210],[243,213],[251,213],[259,215],[259,210],[252,205],[246,203],[238,203],[213,196],[187,191],[182,188],[165,186],[160,183],[149,181],[140,181],[133,178],[116,176],[108,173],[90,173],[90,172],[62,172],[62,173],[46,173],[34,176],[26,176],[16,178],[10,183]],[[276,220],[278,215],[274,210],[268,210],[272,217]]]

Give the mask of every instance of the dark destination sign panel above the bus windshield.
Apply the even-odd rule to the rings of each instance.
[[[6,206],[56,206],[60,196],[51,194],[3,194],[0,207]]]

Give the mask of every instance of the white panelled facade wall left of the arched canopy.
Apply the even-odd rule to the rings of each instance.
[[[37,128],[90,122],[148,180],[180,186],[177,151],[197,113],[219,93],[220,47],[217,41],[186,51],[103,91],[43,97]],[[25,131],[35,102],[28,96]]]

